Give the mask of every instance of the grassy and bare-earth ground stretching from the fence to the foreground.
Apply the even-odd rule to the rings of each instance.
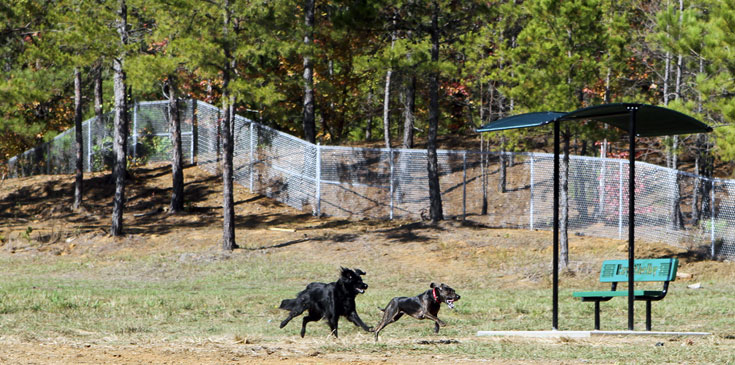
[[[4,186],[0,207],[12,209],[2,211],[0,227],[0,363],[735,361],[732,262],[703,260],[663,244],[637,245],[640,257],[679,257],[679,271],[693,276],[672,283],[667,298],[653,304],[653,329],[711,336],[477,337],[480,330],[550,329],[549,232],[456,221],[431,227],[316,219],[238,191],[237,237],[243,248],[228,254],[218,249],[216,182],[194,169],[187,169],[187,176],[188,189],[197,189],[199,181],[212,187],[190,213],[135,219],[130,217],[135,211],[126,212],[127,227],[137,233],[120,239],[100,231],[107,218],[93,208],[85,214],[98,216],[97,223],[63,209],[44,213],[48,209],[40,206],[61,204],[61,196],[7,204],[14,192],[37,180]],[[51,181],[66,180],[45,183]],[[138,204],[140,211],[157,204],[149,203]],[[147,224],[158,229],[146,229]],[[31,233],[23,229],[27,226],[34,227]],[[56,233],[43,233],[49,231]],[[603,288],[597,283],[599,264],[624,258],[624,242],[574,237],[570,244],[572,262],[561,276],[560,329],[589,330],[593,305],[573,300],[571,292]],[[310,324],[303,339],[298,319],[279,329],[286,315],[277,309],[281,299],[294,297],[308,282],[335,280],[340,266],[367,272],[370,288],[357,305],[369,325],[380,320],[377,307],[393,296],[419,294],[432,281],[449,284],[462,299],[455,310],[443,306],[439,316],[447,326],[439,334],[432,322],[412,318],[389,325],[377,343],[344,319],[338,339],[328,335],[324,322]],[[701,289],[687,288],[694,283]],[[603,329],[627,328],[626,304],[624,299],[602,304]],[[637,329],[644,328],[644,309],[645,303],[636,303]]]

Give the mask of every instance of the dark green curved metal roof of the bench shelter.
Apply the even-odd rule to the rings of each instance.
[[[582,108],[569,113],[534,112],[514,115],[490,122],[477,132],[493,132],[505,129],[538,127],[555,120],[596,120],[628,130],[630,111],[636,108],[636,135],[640,137],[674,134],[707,133],[712,127],[675,110],[646,104],[603,104]]]

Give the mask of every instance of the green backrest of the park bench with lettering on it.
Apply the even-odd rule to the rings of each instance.
[[[674,281],[679,259],[638,259],[634,261],[634,280]],[[628,260],[606,260],[600,270],[600,282],[628,281]]]

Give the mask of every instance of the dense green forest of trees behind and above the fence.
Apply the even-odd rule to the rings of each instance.
[[[174,94],[232,105],[323,144],[412,148],[432,130],[473,134],[513,113],[649,103],[718,128],[644,141],[646,154],[672,167],[677,156],[729,164],[733,8],[728,0],[6,2],[0,159],[73,126],[75,113],[113,110],[120,68],[128,104]],[[599,154],[593,146],[612,137],[578,129],[569,132],[577,154]],[[546,132],[489,138],[532,150],[539,140],[530,137]]]

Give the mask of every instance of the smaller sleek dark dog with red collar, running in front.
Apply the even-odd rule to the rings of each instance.
[[[415,297],[395,297],[391,299],[385,309],[381,309],[383,319],[375,327],[375,341],[378,340],[380,330],[397,321],[403,314],[408,314],[416,319],[428,318],[434,321],[434,332],[439,332],[439,326],[446,325],[444,321],[437,317],[441,303],[447,303],[449,308],[454,308],[454,302],[459,300],[459,294],[445,284],[437,286],[431,283],[429,287],[431,289]]]

